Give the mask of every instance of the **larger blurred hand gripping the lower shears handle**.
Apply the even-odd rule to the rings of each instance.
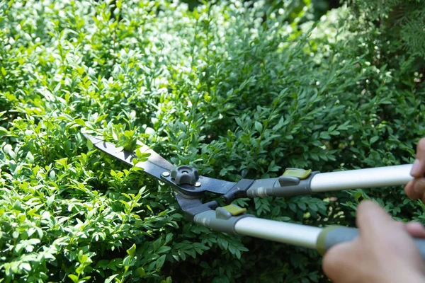
[[[358,238],[324,255],[323,270],[332,282],[425,282],[424,260],[412,238],[425,238],[424,226],[399,223],[370,201],[358,206],[356,223]]]

